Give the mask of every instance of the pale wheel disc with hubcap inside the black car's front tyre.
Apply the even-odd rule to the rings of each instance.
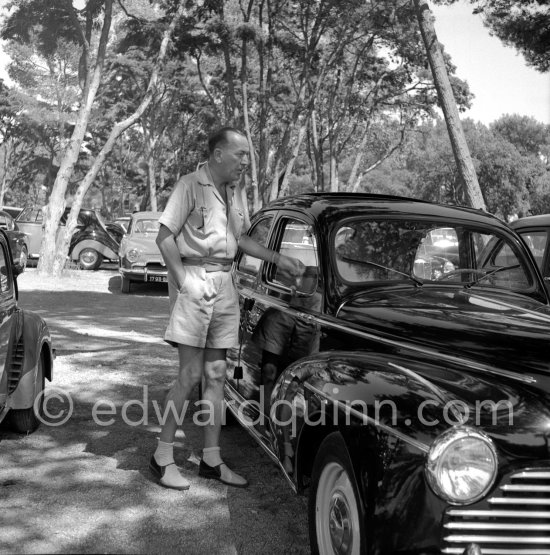
[[[321,472],[315,509],[319,553],[358,554],[360,527],[357,499],[348,473],[337,462],[327,464]]]

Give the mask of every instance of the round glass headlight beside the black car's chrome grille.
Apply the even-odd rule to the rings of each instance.
[[[498,459],[493,442],[466,427],[452,428],[432,445],[426,477],[433,491],[453,505],[481,499],[493,485]]]

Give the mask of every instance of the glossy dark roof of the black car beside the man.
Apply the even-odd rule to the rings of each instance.
[[[418,215],[437,218],[462,219],[475,223],[486,223],[506,228],[506,224],[483,210],[465,206],[436,204],[425,200],[399,197],[393,195],[376,195],[370,193],[307,193],[291,197],[281,197],[265,206],[269,209],[302,209],[316,219],[332,219],[333,215],[347,212],[383,213],[384,215]]]

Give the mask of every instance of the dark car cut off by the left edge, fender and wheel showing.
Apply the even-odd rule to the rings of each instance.
[[[30,433],[40,424],[53,351],[44,320],[17,304],[17,274],[6,234],[0,231],[0,421]]]

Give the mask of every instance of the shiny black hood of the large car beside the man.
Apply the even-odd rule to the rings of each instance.
[[[426,287],[371,291],[347,300],[338,316],[375,335],[550,379],[550,308],[525,296]]]

